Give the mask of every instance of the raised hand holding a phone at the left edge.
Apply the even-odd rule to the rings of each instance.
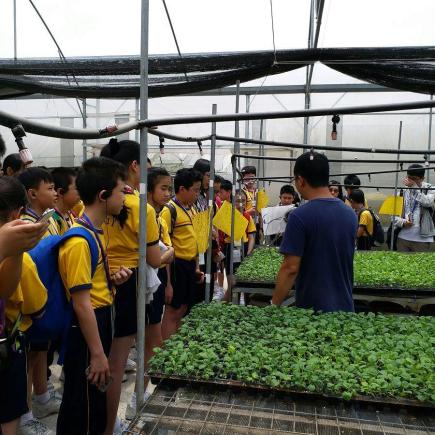
[[[21,255],[34,248],[48,228],[47,222],[30,223],[16,219],[0,228],[0,258]]]

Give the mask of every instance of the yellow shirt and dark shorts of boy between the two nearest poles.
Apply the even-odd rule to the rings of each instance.
[[[176,212],[176,219],[172,224],[171,210]],[[164,207],[161,216],[168,226],[175,259],[171,264],[171,283],[174,289],[171,306],[180,308],[182,305],[192,306],[196,293],[196,263],[198,258],[198,243],[193,229],[193,208],[185,208],[176,198]]]

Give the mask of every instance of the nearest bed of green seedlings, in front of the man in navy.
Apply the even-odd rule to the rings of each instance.
[[[204,304],[150,362],[155,379],[435,408],[435,318]]]

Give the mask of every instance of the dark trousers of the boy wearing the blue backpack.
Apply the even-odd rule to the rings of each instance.
[[[104,353],[108,356],[112,343],[111,307],[96,309],[95,317]],[[90,352],[75,320],[65,353],[65,383],[57,435],[101,435],[106,428],[106,393],[88,382],[85,371],[89,364]]]

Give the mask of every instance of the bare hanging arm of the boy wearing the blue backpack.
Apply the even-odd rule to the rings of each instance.
[[[71,298],[80,330],[91,354],[88,380],[95,385],[105,384],[110,376],[109,362],[101,344],[90,293],[88,290],[77,291],[71,294]]]

